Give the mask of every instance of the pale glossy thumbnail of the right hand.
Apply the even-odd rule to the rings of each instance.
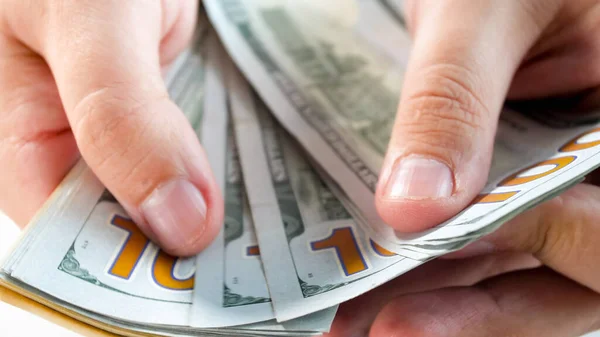
[[[403,158],[392,169],[385,190],[387,198],[444,198],[452,195],[454,179],[450,168],[421,156]]]

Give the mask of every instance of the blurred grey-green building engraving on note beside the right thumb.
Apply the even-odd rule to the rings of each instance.
[[[383,84],[382,76],[369,73],[364,57],[342,55],[322,38],[311,46],[285,9],[263,10],[262,16],[288,57],[312,81],[307,91],[321,95],[334,108],[337,121],[332,122],[354,130],[383,156],[398,95]]]

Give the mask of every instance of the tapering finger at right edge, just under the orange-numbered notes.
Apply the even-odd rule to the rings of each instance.
[[[600,188],[580,184],[529,210],[454,257],[530,252],[545,265],[600,292]]]

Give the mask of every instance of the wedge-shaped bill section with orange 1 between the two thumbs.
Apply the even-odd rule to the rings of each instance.
[[[357,226],[241,74],[229,95],[278,320],[336,305],[422,263],[383,249]]]

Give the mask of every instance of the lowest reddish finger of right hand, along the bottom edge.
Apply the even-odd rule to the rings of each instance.
[[[600,328],[600,295],[546,269],[400,297],[370,336],[581,336]]]

